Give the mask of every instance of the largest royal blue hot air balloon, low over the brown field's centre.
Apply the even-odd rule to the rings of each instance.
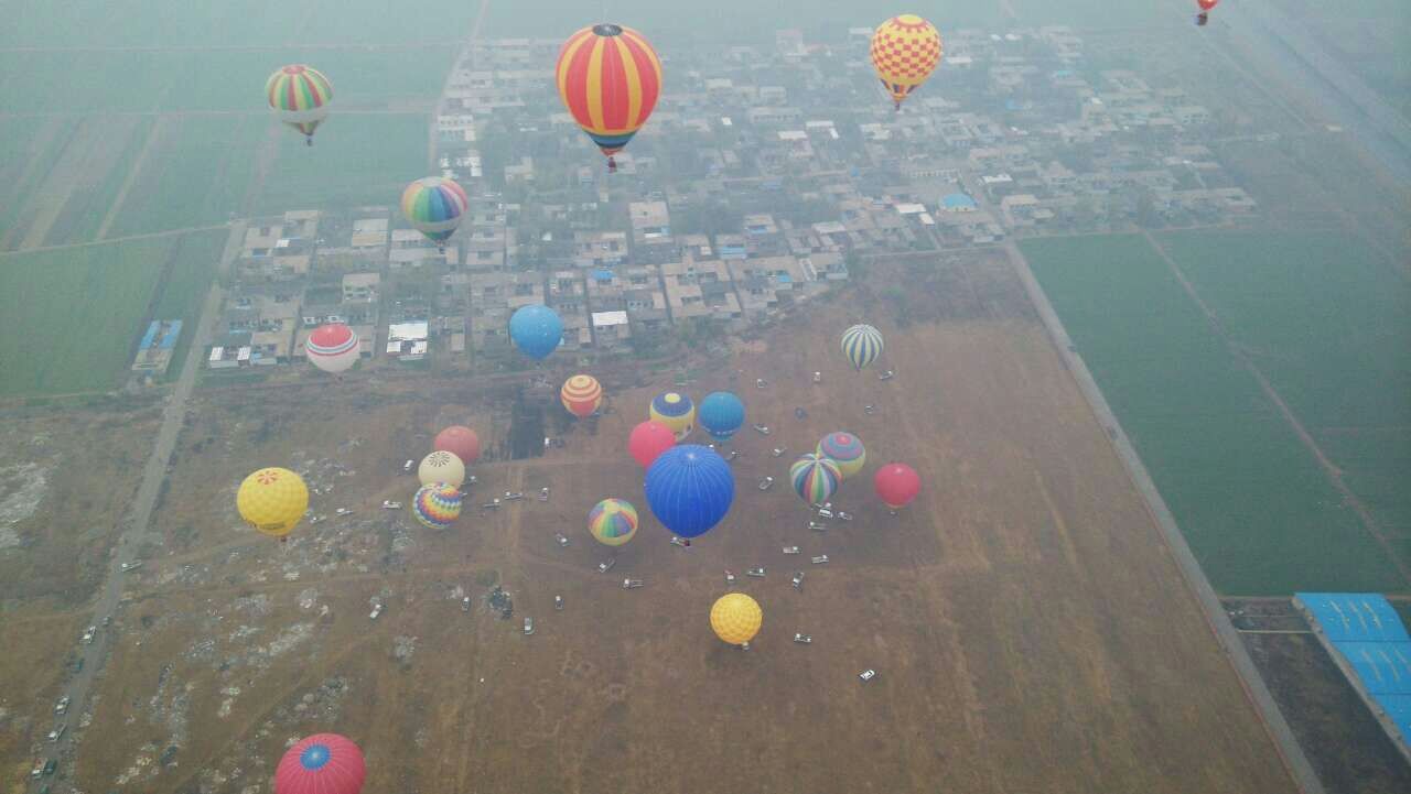
[[[734,501],[735,475],[710,447],[672,447],[646,470],[646,503],[656,520],[680,537],[710,532]]]

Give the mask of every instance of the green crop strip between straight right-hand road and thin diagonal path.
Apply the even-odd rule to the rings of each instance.
[[[1022,248],[1218,591],[1407,588],[1144,238]]]

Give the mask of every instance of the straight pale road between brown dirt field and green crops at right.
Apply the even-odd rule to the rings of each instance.
[[[1108,430],[1108,436],[1112,439],[1112,446],[1116,448],[1123,465],[1126,465],[1127,475],[1132,478],[1132,482],[1137,487],[1137,491],[1146,501],[1147,509],[1151,512],[1151,518],[1154,518],[1157,526],[1161,527],[1161,533],[1165,536],[1167,546],[1171,549],[1175,564],[1181,568],[1181,575],[1185,577],[1187,585],[1189,585],[1191,591],[1195,592],[1195,598],[1201,602],[1201,606],[1205,611],[1205,619],[1211,626],[1211,632],[1215,633],[1216,642],[1221,643],[1221,647],[1229,657],[1230,664],[1235,666],[1235,671],[1239,674],[1240,681],[1245,685],[1245,691],[1249,694],[1250,701],[1263,718],[1264,728],[1274,740],[1274,746],[1284,757],[1284,766],[1288,769],[1290,776],[1292,776],[1298,788],[1304,794],[1324,794],[1322,781],[1318,780],[1318,774],[1314,771],[1312,764],[1308,763],[1308,757],[1304,756],[1302,747],[1298,746],[1298,739],[1294,738],[1292,731],[1288,728],[1288,722],[1284,721],[1283,712],[1278,711],[1278,705],[1268,694],[1268,688],[1264,685],[1264,678],[1259,674],[1259,668],[1254,667],[1254,661],[1250,660],[1249,653],[1245,650],[1243,640],[1239,639],[1239,632],[1235,629],[1233,623],[1230,623],[1229,615],[1225,613],[1225,606],[1215,595],[1215,588],[1211,587],[1209,580],[1205,578],[1205,571],[1201,570],[1201,564],[1195,561],[1195,554],[1191,553],[1191,547],[1185,544],[1185,536],[1181,535],[1180,527],[1175,526],[1175,518],[1171,515],[1171,511],[1167,509],[1165,501],[1161,499],[1161,494],[1157,492],[1156,484],[1151,482],[1151,477],[1147,474],[1146,467],[1141,465],[1141,458],[1137,457],[1136,448],[1132,446],[1132,441],[1127,440],[1126,433],[1122,432],[1122,426],[1118,425],[1118,417],[1112,413],[1112,409],[1108,406],[1108,401],[1102,396],[1102,389],[1099,389],[1098,382],[1092,379],[1092,374],[1088,372],[1088,367],[1082,362],[1082,357],[1079,357],[1074,350],[1072,340],[1068,338],[1068,331],[1064,330],[1062,322],[1048,303],[1048,298],[1044,295],[1043,288],[1038,286],[1038,281],[1034,279],[1033,271],[1029,269],[1029,261],[1024,259],[1024,255],[1019,251],[1019,245],[1013,241],[1006,243],[1005,250],[1009,252],[1009,258],[1013,262],[1015,269],[1019,272],[1020,281],[1024,282],[1024,291],[1029,292],[1029,299],[1033,302],[1034,309],[1038,310],[1038,316],[1048,329],[1048,336],[1058,348],[1058,354],[1062,357],[1068,371],[1072,372],[1074,381],[1078,382],[1078,388],[1082,391],[1084,398],[1086,398],[1088,405],[1098,417],[1098,422]]]

